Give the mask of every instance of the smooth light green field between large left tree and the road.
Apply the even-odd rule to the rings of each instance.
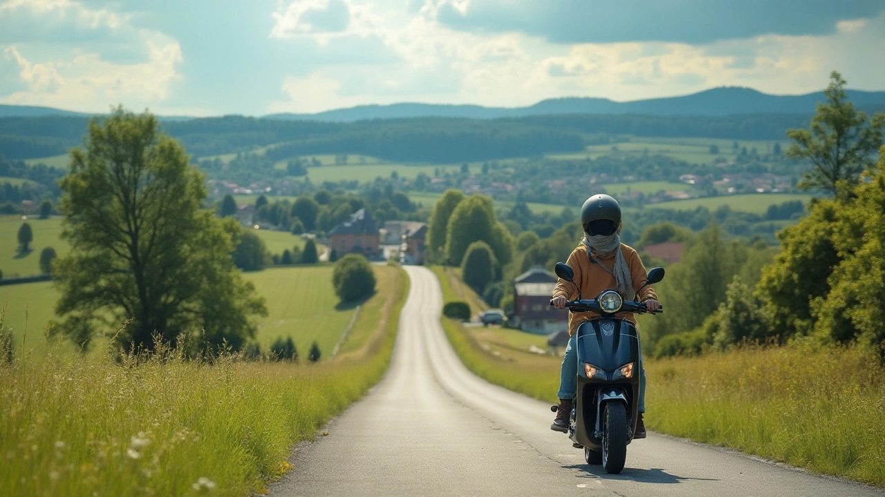
[[[341,338],[356,305],[342,305],[332,286],[331,265],[268,268],[243,273],[266,299],[268,314],[258,322],[258,342],[267,351],[277,337],[292,337],[300,356],[306,357],[313,340],[323,357]],[[396,290],[389,279],[378,284],[379,293]]]

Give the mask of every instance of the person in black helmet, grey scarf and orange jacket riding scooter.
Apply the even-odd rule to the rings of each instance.
[[[574,271],[574,282],[559,279],[553,291],[553,305],[557,309],[566,307],[566,301],[581,295],[597,295],[604,290],[614,288],[625,300],[634,297],[634,288],[642,287],[647,278],[645,266],[633,248],[620,242],[620,205],[609,195],[593,195],[581,207],[581,226],[584,237],[578,248],[568,257],[568,264]],[[658,310],[658,295],[651,287],[643,288],[638,301],[645,302],[649,310]],[[591,317],[598,316],[595,312],[572,312],[568,317],[568,334],[571,338],[566,346],[566,356],[562,360],[559,378],[559,406],[556,419],[550,430],[568,432],[569,417],[572,413],[573,399],[577,394],[578,359],[575,357],[575,335],[578,326]],[[632,314],[623,317],[635,324]],[[639,359],[639,419],[636,420],[634,439],[645,438],[645,371],[643,370],[642,353]]]

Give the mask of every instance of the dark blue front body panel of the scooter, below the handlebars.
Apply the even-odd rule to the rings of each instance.
[[[627,404],[628,432],[636,428],[639,409],[639,335],[626,319],[603,316],[582,324],[575,339],[578,356],[578,392],[570,438],[591,450],[602,450],[602,414],[609,401]],[[588,378],[584,364],[599,370]],[[632,378],[620,376],[620,368],[633,363]],[[628,440],[629,443],[629,440]]]

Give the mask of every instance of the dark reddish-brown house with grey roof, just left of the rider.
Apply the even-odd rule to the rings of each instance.
[[[513,279],[513,314],[529,333],[557,333],[568,328],[568,311],[550,307],[557,277],[535,266]]]

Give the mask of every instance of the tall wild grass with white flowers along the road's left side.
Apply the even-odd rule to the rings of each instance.
[[[289,451],[387,370],[408,279],[366,302],[361,345],[318,364],[106,354],[0,364],[0,494],[217,495],[266,491]],[[371,331],[367,331],[371,330]]]

